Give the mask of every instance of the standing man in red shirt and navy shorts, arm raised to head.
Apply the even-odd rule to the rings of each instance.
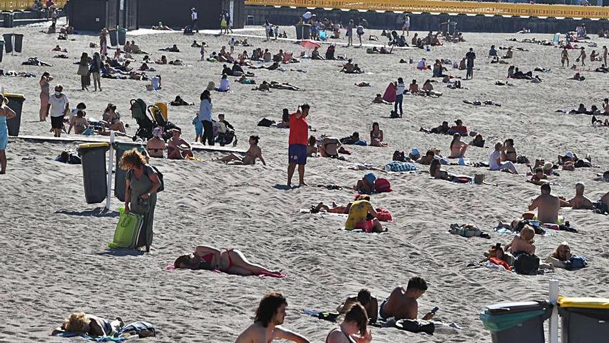
[[[305,184],[305,164],[307,164],[307,143],[309,143],[309,104],[298,106],[298,110],[290,115],[290,136],[288,140],[288,187],[292,186],[292,177],[298,164],[298,179],[300,186]]]

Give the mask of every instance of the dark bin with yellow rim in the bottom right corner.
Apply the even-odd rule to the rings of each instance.
[[[609,299],[558,298],[563,343],[606,343],[609,340]]]

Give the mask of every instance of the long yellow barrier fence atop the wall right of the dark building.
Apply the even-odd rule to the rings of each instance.
[[[497,3],[442,0],[246,0],[246,5],[343,8],[395,12],[433,12],[466,15],[517,15],[520,17],[571,17],[609,19],[609,7]]]

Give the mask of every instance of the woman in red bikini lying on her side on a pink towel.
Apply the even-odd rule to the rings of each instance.
[[[241,276],[280,275],[280,271],[268,270],[251,263],[239,250],[225,249],[221,251],[207,245],[199,245],[194,249],[194,255],[182,255],[176,258],[174,267],[190,270],[219,270],[227,274]]]

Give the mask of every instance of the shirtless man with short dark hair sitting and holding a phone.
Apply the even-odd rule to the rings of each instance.
[[[427,290],[427,283],[419,276],[414,276],[408,281],[408,287],[397,287],[390,296],[383,301],[379,315],[383,319],[394,317],[399,319],[417,319],[419,315],[419,304],[417,299]],[[433,313],[427,313],[423,320],[430,320]]]

